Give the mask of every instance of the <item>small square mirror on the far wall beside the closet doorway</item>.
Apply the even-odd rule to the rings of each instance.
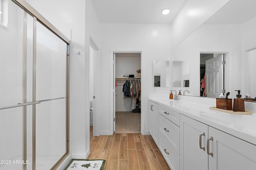
[[[153,87],[170,86],[170,61],[153,60]]]

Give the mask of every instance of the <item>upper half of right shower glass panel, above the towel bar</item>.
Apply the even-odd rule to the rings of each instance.
[[[36,100],[66,97],[67,44],[36,23]]]

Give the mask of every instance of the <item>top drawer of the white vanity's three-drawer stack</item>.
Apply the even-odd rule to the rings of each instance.
[[[165,106],[159,106],[159,113],[176,125],[180,126],[180,113]]]

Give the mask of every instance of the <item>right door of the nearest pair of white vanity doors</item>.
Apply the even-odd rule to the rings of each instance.
[[[209,127],[209,170],[256,170],[256,145]]]

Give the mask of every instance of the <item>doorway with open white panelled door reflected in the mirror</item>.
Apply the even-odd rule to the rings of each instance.
[[[218,98],[224,89],[224,54],[200,54],[200,96]]]

